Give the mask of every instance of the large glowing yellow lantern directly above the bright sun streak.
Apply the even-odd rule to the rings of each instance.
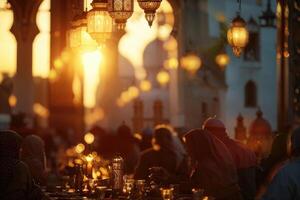
[[[100,44],[111,38],[113,19],[107,11],[107,0],[93,0],[87,13],[87,31]]]

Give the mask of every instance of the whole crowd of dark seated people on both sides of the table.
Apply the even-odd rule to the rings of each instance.
[[[120,154],[124,173],[135,179],[176,184],[183,192],[203,189],[217,200],[300,199],[300,128],[274,136],[271,153],[262,160],[231,139],[215,118],[186,133],[159,125],[141,138],[125,124],[116,134],[100,127],[90,131],[99,155],[111,159]],[[59,173],[57,155],[67,146],[60,137],[22,138],[0,131],[0,199],[46,199],[40,188],[48,184],[50,173]]]

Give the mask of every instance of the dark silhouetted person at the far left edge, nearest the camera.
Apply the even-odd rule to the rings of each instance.
[[[43,199],[30,171],[19,159],[22,138],[13,131],[0,131],[0,199]]]

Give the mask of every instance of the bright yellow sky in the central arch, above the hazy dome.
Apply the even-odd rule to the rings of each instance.
[[[157,37],[165,39],[170,35],[174,25],[174,16],[171,5],[167,0],[163,0],[157,13],[164,13],[164,25],[158,26],[159,17],[157,16],[150,28],[145,20],[144,11],[137,2],[134,4],[134,9],[132,17],[127,21],[127,33],[120,40],[119,52],[132,63],[135,77],[142,80],[146,77],[143,63],[144,50]]]

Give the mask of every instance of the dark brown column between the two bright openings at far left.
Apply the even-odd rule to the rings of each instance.
[[[17,72],[14,92],[17,97],[16,111],[33,114],[34,90],[32,77],[32,42],[38,34],[36,13],[42,0],[10,0],[14,11],[11,32],[17,40]]]

